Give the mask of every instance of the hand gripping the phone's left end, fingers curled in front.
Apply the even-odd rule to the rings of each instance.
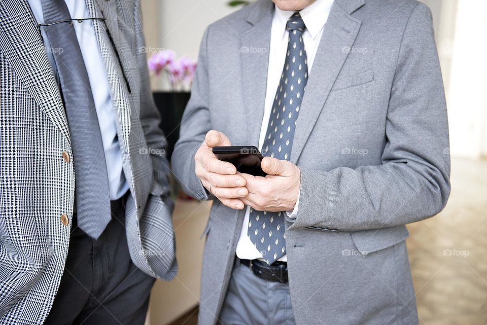
[[[196,176],[203,186],[223,204],[233,209],[243,209],[239,198],[249,191],[245,187],[246,179],[237,174],[237,169],[229,162],[219,160],[213,153],[213,147],[231,146],[230,140],[222,132],[211,130],[194,156]]]

